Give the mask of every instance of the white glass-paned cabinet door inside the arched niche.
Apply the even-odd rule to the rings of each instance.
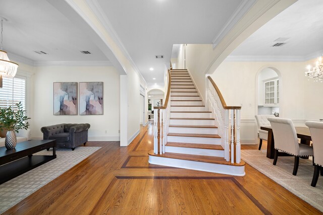
[[[264,105],[279,105],[279,79],[263,82],[264,84]]]

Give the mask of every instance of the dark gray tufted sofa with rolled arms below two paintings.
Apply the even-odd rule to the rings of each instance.
[[[87,133],[90,124],[57,124],[42,127],[43,139],[56,139],[58,148],[71,148],[84,145],[87,142]]]

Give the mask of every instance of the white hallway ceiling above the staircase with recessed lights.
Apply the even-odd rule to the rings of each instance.
[[[243,1],[97,2],[147,84],[164,85],[164,66],[170,64],[173,44],[212,43]],[[156,54],[164,55],[164,59],[155,59]]]

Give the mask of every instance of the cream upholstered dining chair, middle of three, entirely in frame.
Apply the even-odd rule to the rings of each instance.
[[[273,165],[277,163],[279,151],[290,154],[295,157],[293,175],[296,175],[299,157],[313,156],[313,147],[298,143],[295,126],[291,119],[268,118],[268,120],[271,122],[275,139]]]

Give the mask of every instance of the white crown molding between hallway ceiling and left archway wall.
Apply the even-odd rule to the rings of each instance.
[[[120,40],[117,32],[115,31],[115,29],[112,26],[110,20],[105,16],[105,14],[104,14],[101,6],[97,2],[97,0],[85,0],[85,2],[88,5],[88,7],[93,11],[93,13],[95,14],[96,18],[102,24],[102,26],[104,27],[104,29],[110,34],[110,36],[112,37],[112,39],[118,45],[118,47],[120,48],[120,50],[122,51],[122,53],[130,61],[131,65],[135,68],[134,70],[136,71],[136,73],[138,74],[138,76],[147,85],[146,80],[143,78],[142,74],[140,73],[140,70],[138,69],[138,67],[136,66],[136,64],[132,60],[130,54],[128,53],[127,49],[125,48],[125,46],[121,42],[121,40]]]

